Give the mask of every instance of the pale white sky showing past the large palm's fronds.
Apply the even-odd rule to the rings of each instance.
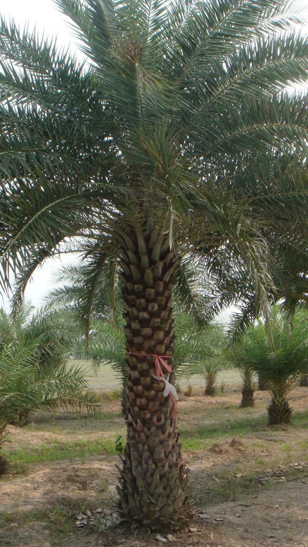
[[[298,0],[298,3],[305,8],[304,14],[308,21],[308,0]],[[74,37],[69,28],[68,20],[55,7],[53,0],[0,0],[0,14],[5,19],[14,19],[16,23],[24,28],[37,28],[39,33],[45,36],[57,37],[57,43],[70,48],[74,53]],[[302,30],[308,33],[308,24],[303,25]],[[54,258],[47,260],[42,267],[34,272],[32,281],[28,283],[26,289],[26,299],[31,300],[34,305],[42,304],[44,295],[46,295],[54,286],[55,272],[63,263],[69,263],[74,260],[72,255],[65,258]],[[2,296],[0,306],[8,306],[8,300]]]

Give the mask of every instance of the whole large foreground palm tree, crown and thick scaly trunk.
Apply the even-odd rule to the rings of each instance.
[[[88,330],[101,280],[111,298],[120,280],[120,508],[175,524],[190,511],[187,468],[174,401],[153,377],[155,356],[172,367],[172,292],[200,321],[240,299],[242,328],[260,311],[270,323],[277,264],[301,276],[307,101],[285,88],[307,76],[307,39],[287,0],[56,3],[83,65],[35,32],[1,26],[1,281],[15,275],[16,310],[59,246],[82,253]],[[191,264],[219,288],[202,306]]]

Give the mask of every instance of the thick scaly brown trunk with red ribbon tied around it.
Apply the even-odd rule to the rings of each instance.
[[[123,275],[127,444],[118,492],[124,514],[162,529],[183,525],[190,513],[188,469],[182,463],[176,409],[164,397],[165,383],[153,379],[154,358],[146,355],[172,356],[173,257],[162,242],[144,247],[127,250]]]

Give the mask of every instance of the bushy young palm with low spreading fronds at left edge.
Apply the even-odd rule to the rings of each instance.
[[[82,371],[66,366],[75,324],[46,309],[33,312],[22,306],[12,319],[0,310],[0,433],[8,423],[24,425],[38,409],[95,411],[98,406],[84,393]]]

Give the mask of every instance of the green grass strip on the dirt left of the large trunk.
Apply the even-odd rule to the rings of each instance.
[[[25,463],[55,462],[61,459],[86,459],[101,452],[116,454],[115,437],[113,439],[89,439],[78,441],[56,441],[39,446],[22,446],[19,449],[4,451],[13,465]]]

